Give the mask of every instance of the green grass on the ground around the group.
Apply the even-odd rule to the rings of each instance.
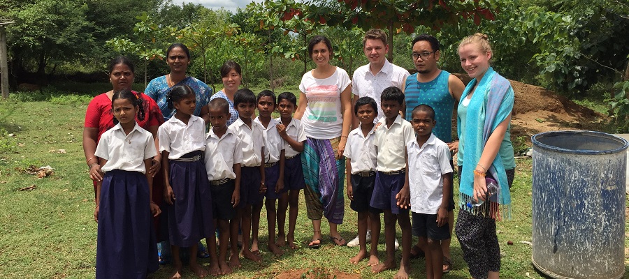
[[[68,96],[71,94],[68,94]],[[87,108],[85,98],[52,95],[43,100],[24,101],[13,94],[0,101],[0,274],[4,278],[93,278],[96,257],[96,223],[92,220],[94,192],[82,154],[81,135]],[[53,98],[54,97],[54,98]],[[65,101],[68,99],[68,101]],[[64,101],[59,101],[64,100]],[[12,137],[8,134],[13,133]],[[3,148],[2,146],[10,146]],[[57,152],[65,149],[66,153]],[[19,169],[29,165],[50,165],[55,174],[37,179]],[[502,278],[540,278],[530,263],[531,248],[520,241],[531,241],[531,161],[518,160],[513,186],[513,218],[498,223],[498,239],[503,253]],[[16,169],[17,168],[17,169]],[[35,185],[35,190],[20,188]],[[340,233],[349,241],[355,236],[356,213],[346,200],[345,223]],[[357,248],[336,247],[324,239],[319,250],[305,248],[312,236],[305,216],[303,195],[296,228],[298,250],[284,250],[273,257],[263,243],[267,241],[266,211],[260,227],[263,263],[243,259],[243,267],[224,278],[275,278],[294,269],[331,269],[361,278],[391,278],[394,271],[373,275],[366,262],[349,264]],[[324,222],[323,234],[328,234]],[[629,234],[629,230],[628,230]],[[400,233],[398,232],[398,239]],[[513,246],[507,246],[513,241]],[[384,236],[381,235],[381,243]],[[469,278],[456,237],[451,245],[454,270],[445,278]],[[379,246],[384,256],[384,244]],[[400,251],[396,253],[400,257]],[[593,255],[595,256],[595,255]],[[208,264],[207,260],[201,261]],[[165,278],[169,266],[152,278]],[[311,274],[315,274],[311,272]],[[325,273],[325,272],[324,272]],[[186,271],[186,278],[194,278]],[[412,262],[412,278],[424,278],[424,260]]]

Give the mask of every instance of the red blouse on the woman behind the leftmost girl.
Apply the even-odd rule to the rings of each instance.
[[[133,93],[138,94],[138,92],[133,91]],[[144,100],[143,107],[145,112],[144,120],[138,120],[138,116],[136,116],[136,121],[138,125],[145,130],[148,130],[151,126],[160,126],[161,123],[164,123],[164,116],[161,115],[161,110],[157,106],[157,103],[146,96],[143,93],[139,93],[140,98]],[[110,128],[113,128],[113,114],[111,113],[111,100],[107,96],[107,93],[102,93],[96,97],[94,97],[91,101],[89,101],[89,105],[87,105],[87,112],[85,112],[85,128],[98,128],[99,129],[99,137],[96,139],[96,142],[101,140],[101,135],[105,133]]]

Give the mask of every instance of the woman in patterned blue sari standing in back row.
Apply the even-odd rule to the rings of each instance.
[[[186,70],[188,70],[190,64],[188,47],[181,43],[172,44],[166,50],[166,63],[171,68],[171,73],[151,80],[144,91],[147,96],[150,96],[157,102],[161,114],[164,114],[164,120],[168,121],[175,114],[174,109],[168,109],[168,102],[166,102],[168,92],[174,86],[188,85],[196,93],[194,115],[203,118],[205,123],[210,123],[207,105],[210,102],[210,96],[212,96],[212,89],[208,84],[201,82],[201,80],[186,75]]]

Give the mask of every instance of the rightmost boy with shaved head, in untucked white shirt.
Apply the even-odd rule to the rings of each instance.
[[[417,140],[407,142],[412,232],[426,253],[426,278],[443,276],[441,241],[450,238],[448,204],[452,167],[448,145],[433,135],[435,110],[418,105],[411,114]]]

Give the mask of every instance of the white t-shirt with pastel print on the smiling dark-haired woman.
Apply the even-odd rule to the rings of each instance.
[[[352,80],[349,80],[347,72],[338,67],[330,77],[324,79],[313,77],[312,70],[301,77],[299,90],[308,99],[301,117],[306,137],[317,140],[340,137],[343,129],[340,94],[350,84]]]

